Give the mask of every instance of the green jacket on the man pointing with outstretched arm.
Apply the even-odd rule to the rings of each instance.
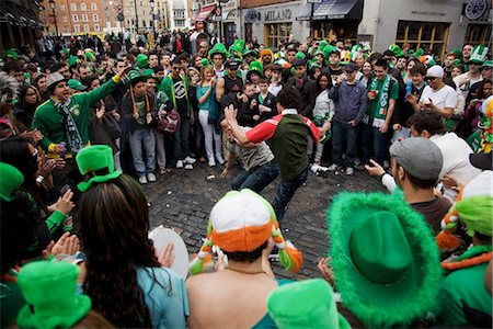
[[[89,143],[89,121],[91,105],[110,94],[117,86],[113,79],[110,79],[103,86],[90,92],[82,92],[70,97],[70,114],[76,121],[80,136],[84,144]],[[47,100],[41,104],[33,117],[33,128],[37,128],[44,136],[39,145],[48,151],[47,156],[56,158],[53,150],[55,144],[67,143],[67,136],[62,124],[62,117],[55,107],[53,100]]]

